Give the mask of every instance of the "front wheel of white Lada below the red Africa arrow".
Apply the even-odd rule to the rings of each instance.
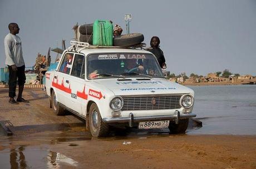
[[[97,116],[97,122],[93,124],[93,117]],[[94,120],[95,121],[95,120]],[[89,126],[93,137],[107,136],[109,125],[102,121],[98,106],[93,103],[89,110]]]

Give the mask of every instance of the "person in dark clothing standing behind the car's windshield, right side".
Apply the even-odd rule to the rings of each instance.
[[[149,52],[155,55],[159,65],[161,68],[165,69],[165,58],[163,51],[159,48],[160,39],[159,37],[152,37],[150,40],[151,48],[149,48]]]

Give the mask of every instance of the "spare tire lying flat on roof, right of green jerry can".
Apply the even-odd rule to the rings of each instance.
[[[144,35],[141,33],[131,33],[117,36],[113,39],[114,46],[117,47],[129,47],[136,45],[144,40]]]

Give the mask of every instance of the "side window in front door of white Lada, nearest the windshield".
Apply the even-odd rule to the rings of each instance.
[[[78,78],[85,78],[85,56],[76,54],[73,62],[71,75]]]

